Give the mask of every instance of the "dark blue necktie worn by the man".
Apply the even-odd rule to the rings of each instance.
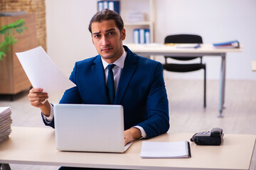
[[[109,103],[114,104],[114,75],[112,69],[115,65],[109,64],[107,67],[109,69],[107,74],[107,94],[109,97]]]

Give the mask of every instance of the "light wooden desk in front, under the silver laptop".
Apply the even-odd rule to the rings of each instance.
[[[80,166],[109,169],[249,169],[256,135],[224,135],[220,146],[191,142],[191,158],[142,159],[142,140],[124,154],[60,152],[51,128],[13,127],[9,140],[0,144],[0,163]],[[164,134],[147,141],[190,140],[193,134]],[[99,137],[99,140],[100,139]]]

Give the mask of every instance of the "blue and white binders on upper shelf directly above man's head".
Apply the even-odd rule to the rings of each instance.
[[[112,11],[120,13],[120,2],[119,1],[97,1],[97,10],[102,11],[108,8]]]

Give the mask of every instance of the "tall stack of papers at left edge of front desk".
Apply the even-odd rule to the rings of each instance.
[[[0,142],[7,140],[11,134],[11,108],[0,107]]]

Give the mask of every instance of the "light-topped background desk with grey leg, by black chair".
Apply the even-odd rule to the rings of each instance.
[[[199,48],[177,48],[175,45],[136,45],[125,44],[132,52],[137,55],[149,57],[150,55],[166,55],[175,57],[196,57],[196,56],[220,56],[221,68],[220,68],[220,98],[219,98],[219,112],[222,117],[222,111],[224,108],[225,100],[225,65],[226,65],[226,53],[227,52],[242,52],[242,47],[233,49],[215,49],[213,45],[201,45]]]

